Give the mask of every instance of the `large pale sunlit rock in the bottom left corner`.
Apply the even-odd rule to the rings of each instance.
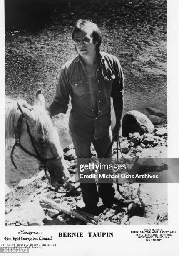
[[[18,222],[21,225],[43,225],[45,214],[38,202],[28,202],[16,207],[6,215],[6,223]]]

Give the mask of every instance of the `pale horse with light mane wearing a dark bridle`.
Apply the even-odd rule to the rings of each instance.
[[[40,166],[45,170],[50,186],[57,191],[65,185],[70,174],[67,170],[60,146],[57,128],[55,127],[50,112],[45,108],[45,97],[41,89],[35,94],[33,106],[25,100],[6,99],[5,104],[5,138],[11,139],[15,146],[19,146],[24,156],[35,157],[40,161]],[[17,167],[15,166],[17,169]]]

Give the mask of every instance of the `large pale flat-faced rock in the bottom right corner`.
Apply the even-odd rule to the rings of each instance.
[[[144,217],[157,220],[158,214],[162,220],[167,219],[167,184],[141,184],[137,195],[144,209]]]

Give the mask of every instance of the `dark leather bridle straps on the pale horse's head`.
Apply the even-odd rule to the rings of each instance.
[[[18,118],[18,121],[17,121],[17,126],[16,126],[16,129],[15,129],[15,143],[14,143],[14,146],[12,147],[11,154],[10,154],[11,162],[12,162],[13,166],[15,167],[15,169],[17,169],[17,166],[15,165],[15,162],[13,160],[13,152],[15,150],[15,147],[19,147],[20,149],[22,149],[22,151],[27,153],[29,156],[33,156],[34,158],[36,158],[36,159],[38,159],[40,161],[39,169],[40,170],[44,169],[45,174],[50,179],[50,174],[48,172],[48,167],[47,167],[46,163],[47,163],[47,161],[58,160],[58,159],[61,158],[61,156],[52,157],[52,158],[43,158],[40,155],[40,153],[37,150],[37,147],[35,146],[35,141],[34,141],[34,139],[32,137],[32,134],[30,133],[30,127],[29,127],[29,124],[28,124],[27,120],[26,120],[27,133],[29,135],[30,141],[32,143],[32,146],[34,148],[34,151],[35,151],[36,155],[31,153],[30,151],[28,151],[26,148],[24,148],[22,146],[22,144],[20,143],[20,126],[22,124],[23,118],[25,118],[25,116],[23,114],[21,114],[20,117]]]

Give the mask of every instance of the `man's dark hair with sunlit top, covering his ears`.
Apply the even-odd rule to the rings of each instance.
[[[98,26],[91,22],[90,20],[78,20],[77,23],[75,24],[75,28],[72,31],[72,39],[74,39],[74,34],[77,32],[89,32],[89,30],[92,31],[92,37],[93,37],[93,41],[94,43],[98,42],[96,44],[96,51],[99,52],[100,51],[100,46],[101,46],[101,41],[102,41],[102,36],[101,33],[99,31]]]

